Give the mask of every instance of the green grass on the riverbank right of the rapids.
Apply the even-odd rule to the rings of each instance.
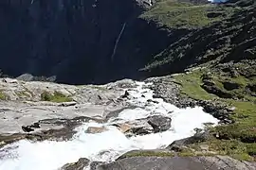
[[[245,68],[245,67],[244,67]],[[254,72],[254,70],[253,70]],[[221,98],[217,95],[207,93],[201,85],[204,83],[202,77],[210,73],[210,82],[221,91],[231,93],[231,98]],[[243,161],[255,161],[256,155],[256,97],[253,92],[247,91],[247,85],[254,83],[256,77],[246,77],[242,74],[229,76],[221,71],[201,69],[192,71],[190,74],[174,76],[174,81],[181,85],[181,93],[193,99],[205,99],[221,101],[235,108],[229,116],[235,122],[210,129],[212,139],[205,143],[210,145],[210,151],[221,155],[229,155]],[[235,82],[239,86],[233,90],[225,89],[223,82]],[[213,137],[215,136],[215,137]],[[198,150],[199,144],[191,144],[190,147]],[[181,152],[180,155],[194,155],[192,152]]]

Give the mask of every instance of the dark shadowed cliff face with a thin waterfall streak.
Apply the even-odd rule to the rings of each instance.
[[[10,76],[57,76],[67,83],[136,78],[163,50],[168,32],[137,18],[152,1],[0,2],[0,68]]]

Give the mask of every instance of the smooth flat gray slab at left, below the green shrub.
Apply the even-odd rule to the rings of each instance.
[[[35,102],[33,104],[21,102],[0,103],[0,134],[24,132],[22,126],[30,126],[35,122],[45,119],[73,119],[79,116],[104,117],[111,110],[111,106],[92,104],[77,104],[75,106],[46,105]],[[41,129],[55,128],[44,125]],[[59,127],[58,127],[59,128]]]

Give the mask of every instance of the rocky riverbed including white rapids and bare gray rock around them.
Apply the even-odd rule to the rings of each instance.
[[[21,89],[34,97],[17,95],[1,101],[0,169],[254,168],[229,157],[179,157],[174,152],[183,144],[179,140],[203,134],[204,127],[216,126],[219,120],[203,108],[180,109],[166,102],[167,97],[157,96],[163,93],[161,78],[79,87],[1,80],[6,96]],[[166,87],[171,88],[165,92],[175,97],[178,86]],[[42,93],[55,92],[71,100],[41,101]]]

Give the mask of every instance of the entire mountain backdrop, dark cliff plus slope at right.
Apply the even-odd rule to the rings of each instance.
[[[0,2],[0,68],[9,76],[106,83],[255,59],[255,2]]]

